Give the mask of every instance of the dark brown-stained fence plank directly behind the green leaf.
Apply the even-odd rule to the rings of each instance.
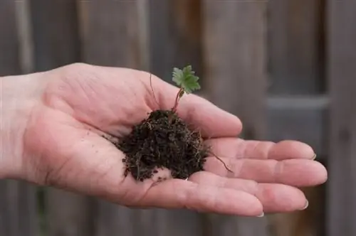
[[[190,64],[199,77],[204,76],[201,0],[149,1],[148,7],[150,71],[172,82],[172,68]],[[199,92],[204,92],[204,80],[201,88]],[[150,218],[155,227],[151,230],[161,235],[201,235],[201,217],[190,210],[153,211]],[[161,223],[158,225],[155,219]]]

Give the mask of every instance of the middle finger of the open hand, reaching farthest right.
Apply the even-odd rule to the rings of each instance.
[[[226,169],[229,168],[234,173]],[[291,160],[253,160],[209,157],[204,169],[219,176],[244,178],[263,183],[283,183],[290,186],[316,186],[325,183],[327,171],[317,161]]]

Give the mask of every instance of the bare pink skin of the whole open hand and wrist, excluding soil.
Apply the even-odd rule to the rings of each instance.
[[[242,124],[197,95],[177,112],[200,129],[214,156],[187,181],[124,178],[124,154],[102,137],[120,138],[154,109],[171,109],[179,90],[150,74],[86,64],[1,78],[0,178],[93,195],[132,208],[188,208],[261,216],[303,210],[300,187],[317,186],[327,171],[299,141],[239,139]],[[23,88],[25,89],[24,91]]]

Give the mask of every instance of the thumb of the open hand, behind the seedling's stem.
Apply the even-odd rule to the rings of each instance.
[[[150,86],[147,75],[145,75],[145,82],[147,86]],[[152,87],[155,90],[159,108],[172,109],[179,89],[153,76]],[[237,136],[242,129],[238,117],[197,95],[184,94],[179,100],[177,113],[179,117],[192,125],[193,129],[199,129],[204,137]]]

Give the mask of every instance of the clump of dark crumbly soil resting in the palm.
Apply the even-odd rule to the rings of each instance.
[[[144,181],[168,168],[173,178],[188,178],[203,170],[209,148],[204,146],[199,132],[192,132],[176,113],[157,110],[137,124],[131,134],[117,144],[126,154],[125,176]]]

